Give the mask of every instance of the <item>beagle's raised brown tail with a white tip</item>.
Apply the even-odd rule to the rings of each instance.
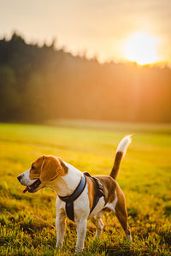
[[[127,146],[129,146],[131,141],[132,141],[131,135],[127,135],[126,137],[124,137],[121,140],[120,144],[117,147],[114,166],[109,174],[109,176],[111,176],[114,179],[116,179],[116,177],[118,175],[118,172],[120,169],[120,164],[121,164],[121,159],[125,156],[125,154],[127,152]]]

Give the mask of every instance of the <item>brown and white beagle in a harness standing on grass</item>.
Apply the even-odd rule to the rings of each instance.
[[[62,247],[65,233],[65,219],[69,217],[77,225],[76,253],[84,248],[87,219],[96,226],[96,237],[103,231],[103,211],[111,210],[121,223],[128,241],[132,241],[127,221],[124,193],[116,177],[121,159],[124,157],[131,136],[124,137],[115,154],[115,162],[109,176],[90,176],[55,156],[42,156],[31,168],[18,176],[21,185],[27,186],[23,193],[35,193],[41,188],[52,188],[56,198],[56,247]]]

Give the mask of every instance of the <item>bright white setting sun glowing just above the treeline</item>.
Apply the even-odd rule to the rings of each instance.
[[[160,61],[158,51],[159,39],[148,33],[134,33],[124,44],[125,58],[139,65]]]

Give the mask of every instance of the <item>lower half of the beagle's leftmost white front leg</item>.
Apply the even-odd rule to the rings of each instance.
[[[63,246],[63,237],[65,234],[65,218],[65,215],[62,213],[56,216],[56,248]]]

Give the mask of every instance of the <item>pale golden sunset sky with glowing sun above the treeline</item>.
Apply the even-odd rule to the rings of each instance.
[[[0,24],[1,38],[16,30],[29,43],[56,39],[101,61],[171,63],[170,0],[0,0]]]

